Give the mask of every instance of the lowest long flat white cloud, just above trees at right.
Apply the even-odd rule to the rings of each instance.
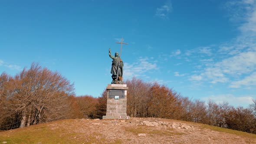
[[[233,106],[244,106],[247,107],[249,104],[253,103],[253,99],[256,98],[256,95],[244,95],[240,97],[235,97],[232,94],[224,94],[224,95],[211,95],[209,97],[201,98],[203,101],[208,101],[209,99],[215,101],[217,104],[228,102]]]

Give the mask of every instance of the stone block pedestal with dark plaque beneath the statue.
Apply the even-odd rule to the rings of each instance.
[[[108,84],[107,113],[103,119],[130,119],[126,114],[127,90],[127,85]]]

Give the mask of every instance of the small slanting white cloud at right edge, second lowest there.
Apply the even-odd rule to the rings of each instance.
[[[240,81],[231,82],[230,88],[240,88],[241,85],[244,85],[244,86],[256,85],[256,72],[253,72],[253,74],[245,77]]]

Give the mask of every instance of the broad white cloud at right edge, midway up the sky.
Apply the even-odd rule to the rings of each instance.
[[[203,60],[211,61],[211,59]],[[229,82],[230,78],[236,78],[243,74],[255,72],[256,70],[256,52],[241,52],[238,55],[223,59],[220,62],[208,63],[208,65],[200,72],[200,76],[210,83]],[[229,78],[230,77],[230,78]],[[191,78],[190,80],[198,81]],[[234,87],[234,84],[232,84]]]

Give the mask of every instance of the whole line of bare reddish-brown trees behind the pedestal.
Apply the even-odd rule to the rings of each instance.
[[[183,97],[158,82],[132,78],[125,83],[131,117],[192,121],[256,134],[256,100],[248,108],[235,108],[227,102]],[[0,75],[0,130],[66,118],[100,118],[106,107],[106,90],[98,98],[75,96],[69,80],[37,63],[13,77]]]

